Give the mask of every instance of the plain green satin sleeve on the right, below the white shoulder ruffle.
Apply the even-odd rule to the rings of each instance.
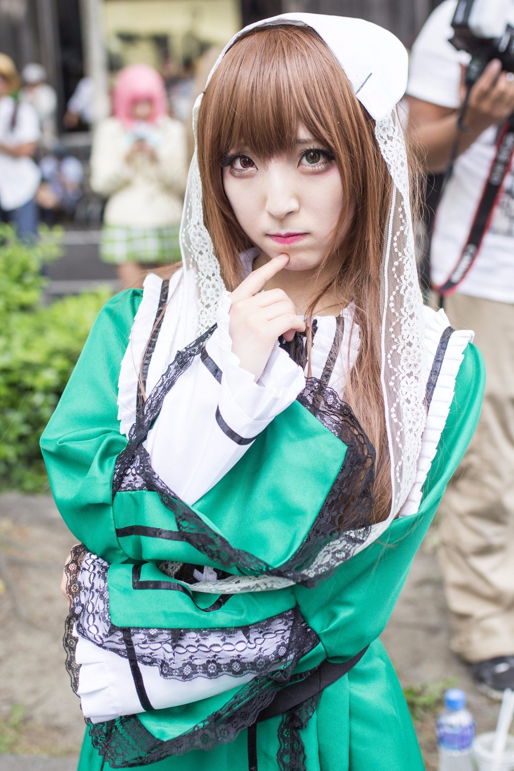
[[[471,441],[484,383],[482,355],[468,345],[418,513],[393,521],[375,543],[317,588],[294,589],[301,613],[332,661],[351,658],[384,630],[448,480]]]

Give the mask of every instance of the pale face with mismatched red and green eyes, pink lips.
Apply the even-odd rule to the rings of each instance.
[[[299,126],[291,152],[264,162],[243,146],[221,163],[233,213],[260,252],[268,258],[289,254],[287,270],[317,268],[343,205],[341,176],[328,146]]]

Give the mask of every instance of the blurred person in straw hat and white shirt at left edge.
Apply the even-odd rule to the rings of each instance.
[[[18,236],[37,235],[35,194],[41,173],[33,160],[41,136],[32,105],[19,96],[14,62],[0,54],[0,221],[12,222]]]

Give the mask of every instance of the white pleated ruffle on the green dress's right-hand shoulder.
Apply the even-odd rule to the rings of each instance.
[[[448,316],[442,309],[435,313],[425,308],[425,349],[428,362],[433,362],[441,335],[450,326]],[[398,517],[409,517],[419,510],[422,501],[422,487],[435,458],[439,439],[445,427],[450,406],[455,393],[455,379],[464,358],[464,350],[472,342],[474,333],[469,329],[452,332],[448,340],[441,370],[435,384],[432,402],[428,409],[425,431],[422,437],[422,449],[418,457],[415,483],[401,507]]]

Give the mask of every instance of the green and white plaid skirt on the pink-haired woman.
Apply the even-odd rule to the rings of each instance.
[[[177,262],[180,260],[179,227],[178,223],[164,227],[104,225],[100,259],[118,265]]]

